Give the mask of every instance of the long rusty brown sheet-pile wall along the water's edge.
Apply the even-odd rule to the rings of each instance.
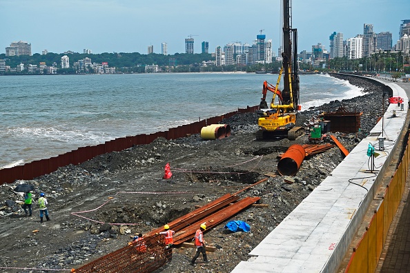
[[[86,146],[60,154],[59,156],[51,157],[50,159],[41,159],[40,161],[32,161],[24,165],[15,166],[13,168],[0,169],[0,185],[3,183],[13,183],[18,179],[31,180],[43,174],[54,172],[60,167],[66,165],[83,163],[89,159],[94,158],[100,154],[108,152],[121,151],[133,147],[133,145],[144,145],[153,142],[158,137],[165,139],[179,139],[188,134],[198,134],[206,124],[213,124],[222,121],[228,117],[232,117],[237,113],[255,112],[259,105],[245,109],[238,109],[234,112],[228,112],[222,116],[211,117],[206,120],[197,121],[195,123],[178,126],[177,128],[170,128],[165,132],[156,132],[153,134],[139,134],[137,136],[126,136],[119,139],[106,141],[104,144],[96,146]]]

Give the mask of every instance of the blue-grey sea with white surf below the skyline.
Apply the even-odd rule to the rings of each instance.
[[[259,105],[276,74],[242,72],[0,77],[0,168],[87,145]],[[300,76],[302,110],[362,90],[329,75]],[[269,92],[267,101],[272,98]]]

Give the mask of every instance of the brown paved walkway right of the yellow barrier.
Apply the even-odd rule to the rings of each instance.
[[[410,83],[397,83],[410,97]],[[376,272],[410,272],[410,175]]]

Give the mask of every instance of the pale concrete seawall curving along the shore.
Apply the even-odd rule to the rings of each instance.
[[[389,108],[369,136],[363,139],[313,192],[251,251],[233,272],[336,272],[404,134],[408,97],[394,83],[393,97],[404,99]],[[396,117],[393,117],[393,110]],[[379,150],[380,137],[384,149]],[[367,156],[371,143],[380,154]]]

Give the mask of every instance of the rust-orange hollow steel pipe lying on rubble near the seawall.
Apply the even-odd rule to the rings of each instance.
[[[277,163],[277,172],[287,176],[295,175],[300,165],[302,165],[304,156],[306,156],[306,152],[301,145],[291,145]]]

